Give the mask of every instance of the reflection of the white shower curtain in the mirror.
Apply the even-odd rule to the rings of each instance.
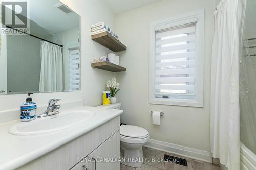
[[[46,41],[41,41],[39,91],[63,91],[63,58],[61,47]]]

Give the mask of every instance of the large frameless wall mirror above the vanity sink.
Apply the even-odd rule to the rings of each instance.
[[[13,8],[21,11],[2,4],[2,27],[9,31],[17,31],[6,24]],[[27,14],[15,19],[22,17],[29,32],[1,34],[0,95],[79,91],[80,16],[58,0],[30,0]]]

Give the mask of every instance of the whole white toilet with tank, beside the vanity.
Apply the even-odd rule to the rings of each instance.
[[[108,106],[98,106],[107,109],[121,109],[121,103],[115,103]],[[120,145],[123,152],[121,152],[122,164],[140,168],[143,164],[142,147],[150,139],[150,133],[141,127],[133,125],[120,126]]]

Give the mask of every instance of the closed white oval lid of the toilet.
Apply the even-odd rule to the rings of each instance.
[[[148,135],[148,131],[138,126],[122,125],[120,134],[127,137],[144,137]]]

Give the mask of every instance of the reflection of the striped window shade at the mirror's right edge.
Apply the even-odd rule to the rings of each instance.
[[[80,90],[80,55],[79,49],[69,51],[69,90]]]

